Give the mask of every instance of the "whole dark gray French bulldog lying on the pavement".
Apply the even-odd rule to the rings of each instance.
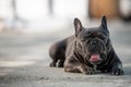
[[[75,34],[51,46],[51,67],[64,67],[66,72],[94,74],[95,71],[122,75],[122,63],[109,38],[106,16],[98,27],[84,28],[74,18]]]

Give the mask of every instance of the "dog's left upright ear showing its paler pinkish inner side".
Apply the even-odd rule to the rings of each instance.
[[[75,29],[75,36],[79,35],[79,33],[82,30],[82,23],[79,18],[74,18],[74,29]]]

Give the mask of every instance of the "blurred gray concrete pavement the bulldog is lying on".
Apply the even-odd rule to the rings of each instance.
[[[83,75],[49,67],[49,46],[73,34],[71,26],[50,34],[0,34],[0,87],[131,87],[131,25],[122,22],[108,25],[124,75]]]

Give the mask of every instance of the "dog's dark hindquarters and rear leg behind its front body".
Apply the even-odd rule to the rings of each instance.
[[[49,55],[52,59],[52,62],[50,63],[50,66],[57,66],[58,62],[58,67],[63,66],[63,62],[66,60],[66,50],[67,47],[74,40],[74,36],[70,36],[61,41],[58,41],[53,44],[50,49],[49,49]]]

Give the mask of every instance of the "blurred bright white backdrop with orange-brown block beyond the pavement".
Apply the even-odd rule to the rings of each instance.
[[[130,22],[130,5],[131,0],[0,0],[0,33],[56,32],[72,26],[74,17],[91,22],[106,15]]]

